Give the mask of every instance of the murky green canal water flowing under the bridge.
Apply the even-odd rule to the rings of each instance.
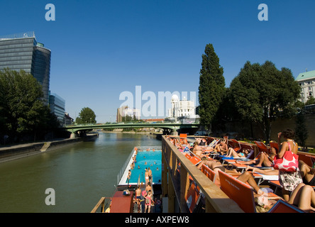
[[[160,145],[150,135],[99,133],[92,141],[0,163],[0,212],[90,212],[102,196],[114,193],[135,146]],[[55,205],[46,205],[46,189],[55,191]]]

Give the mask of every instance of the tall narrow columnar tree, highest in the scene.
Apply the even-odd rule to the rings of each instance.
[[[225,91],[223,67],[220,66],[219,57],[212,44],[206,45],[199,74],[200,123],[210,130]]]

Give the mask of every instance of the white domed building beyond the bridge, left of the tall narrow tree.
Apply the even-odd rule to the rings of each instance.
[[[171,99],[172,108],[168,110],[169,118],[178,118],[181,116],[191,116],[196,115],[193,101],[188,101],[185,97],[183,100],[179,100],[178,96],[174,94]]]

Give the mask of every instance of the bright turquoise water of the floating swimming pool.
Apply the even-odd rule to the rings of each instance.
[[[162,176],[162,151],[161,150],[141,150],[136,156],[136,163],[131,170],[129,184],[137,184],[140,176],[140,182],[145,183],[145,168],[149,168],[153,175],[153,184],[161,183]]]

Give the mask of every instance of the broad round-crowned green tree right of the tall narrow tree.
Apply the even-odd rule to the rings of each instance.
[[[272,121],[292,113],[299,97],[299,84],[291,70],[277,70],[270,61],[263,65],[246,62],[230,89],[238,114],[245,121],[260,123],[268,143]]]

